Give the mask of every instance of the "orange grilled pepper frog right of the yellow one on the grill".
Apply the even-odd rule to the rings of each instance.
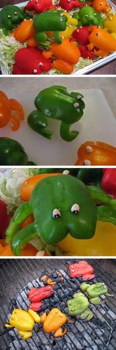
[[[67,318],[64,313],[58,308],[53,308],[44,320],[43,329],[47,333],[55,331],[54,337],[56,338],[62,337],[67,332],[67,329],[63,331],[60,327],[66,322],[66,320]]]

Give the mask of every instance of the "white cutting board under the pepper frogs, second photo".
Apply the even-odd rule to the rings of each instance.
[[[84,95],[86,108],[81,120],[71,126],[71,130],[79,131],[79,135],[72,142],[62,140],[59,134],[60,121],[54,119],[48,118],[47,129],[54,130],[51,140],[31,130],[27,118],[29,113],[36,109],[34,98],[40,90],[41,88],[38,88],[37,91],[27,95],[23,94],[23,91],[22,94],[14,92],[12,98],[16,98],[22,104],[25,121],[21,121],[18,131],[11,131],[11,122],[5,128],[0,129],[0,137],[14,138],[24,146],[29,160],[40,166],[69,166],[75,164],[77,150],[86,141],[102,141],[116,146],[116,119],[100,89],[77,90]],[[10,98],[10,91],[8,97]]]

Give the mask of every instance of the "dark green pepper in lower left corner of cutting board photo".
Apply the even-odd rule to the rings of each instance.
[[[0,165],[29,165],[24,147],[12,138],[0,137]]]

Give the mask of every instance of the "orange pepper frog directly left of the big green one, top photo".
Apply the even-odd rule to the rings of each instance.
[[[32,35],[34,35],[36,30],[33,28],[33,21],[32,20],[24,20],[18,28],[16,28],[12,35],[15,37],[15,39],[20,42],[24,43],[26,40],[28,40]]]

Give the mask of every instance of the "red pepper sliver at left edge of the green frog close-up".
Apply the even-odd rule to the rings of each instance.
[[[7,215],[6,205],[0,199],[0,238],[5,238],[6,228],[9,225],[12,215]]]

